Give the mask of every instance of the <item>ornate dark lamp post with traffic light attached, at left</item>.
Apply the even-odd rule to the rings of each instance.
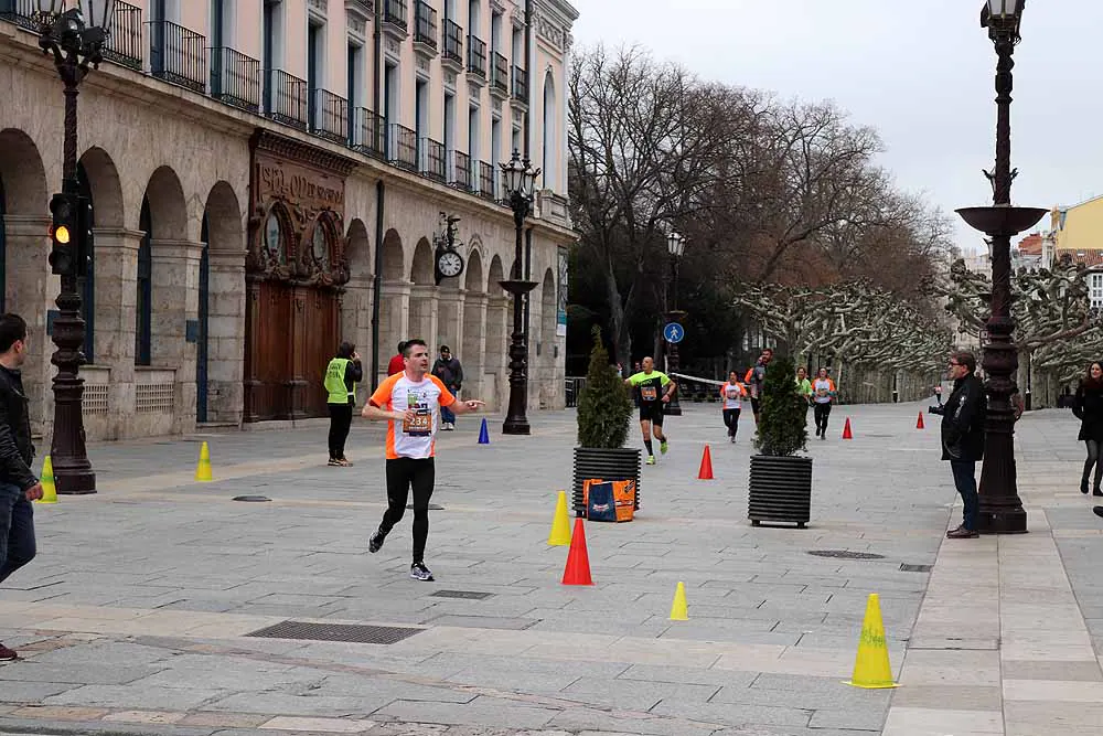
[[[66,9],[66,6],[69,6]],[[61,252],[51,265],[61,275],[61,294],[57,296],[58,316],[53,323],[53,339],[57,350],[50,362],[57,366],[54,376],[54,428],[50,446],[50,457],[54,465],[54,480],[58,493],[95,493],[96,473],[92,470],[85,449],[84,378],[78,377],[85,362],[84,320],[81,319],[81,295],[77,292],[77,276],[84,270],[88,242],[86,202],[79,198],[77,183],[77,125],[76,98],[78,87],[87,76],[89,67],[98,67],[103,61],[103,49],[110,32],[115,15],[115,0],[39,0],[39,46],[43,53],[52,54],[54,66],[65,83],[65,140],[62,162],[62,195],[55,195],[51,203],[57,220],[60,211],[71,210],[76,204],[79,212],[76,222],[74,252]],[[55,206],[54,203],[57,203]],[[67,214],[72,214],[71,212]],[[55,228],[56,230],[56,228]],[[69,245],[69,235],[53,234],[55,244]],[[75,257],[71,257],[75,256]]]

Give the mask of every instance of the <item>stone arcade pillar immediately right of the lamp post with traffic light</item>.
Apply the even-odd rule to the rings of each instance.
[[[143,233],[96,228],[95,340],[96,365],[110,369],[106,437],[127,437],[135,416],[135,316],[138,294],[138,248]],[[88,418],[85,419],[86,424]],[[87,429],[87,427],[86,427]],[[92,434],[89,433],[89,438]]]

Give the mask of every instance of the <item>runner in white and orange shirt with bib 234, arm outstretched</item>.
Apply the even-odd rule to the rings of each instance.
[[[406,343],[405,370],[388,376],[364,405],[362,415],[387,423],[387,510],[378,530],[368,540],[367,551],[375,553],[387,534],[406,513],[410,489],[414,491],[414,558],[410,577],[432,580],[425,565],[425,545],[429,536],[429,499],[436,476],[433,438],[439,425],[439,409],[456,414],[479,410],[483,403],[458,401],[448,387],[429,373],[429,348],[422,340]]]

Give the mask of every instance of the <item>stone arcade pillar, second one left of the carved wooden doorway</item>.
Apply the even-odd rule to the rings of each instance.
[[[195,429],[196,345],[188,342],[186,327],[200,314],[203,247],[190,241],[150,241],[150,363],[175,370],[172,428],[176,434]]]

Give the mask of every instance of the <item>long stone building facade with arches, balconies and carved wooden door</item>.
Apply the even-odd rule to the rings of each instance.
[[[0,0],[0,276],[49,433],[63,95],[35,4]],[[120,0],[79,96],[88,438],[323,416],[340,340],[376,380],[401,339],[448,344],[465,395],[504,408],[497,282],[515,267],[538,284],[529,405],[563,406],[577,17],[565,0]],[[514,149],[543,169],[520,265],[499,172]],[[442,278],[449,217],[464,268]]]

